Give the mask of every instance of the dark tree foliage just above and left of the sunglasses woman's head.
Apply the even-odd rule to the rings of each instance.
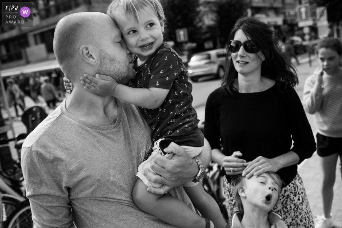
[[[225,45],[237,19],[247,16],[247,0],[218,0],[216,23],[220,43]]]

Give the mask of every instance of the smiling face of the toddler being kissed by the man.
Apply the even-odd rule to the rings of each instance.
[[[134,17],[117,11],[115,19],[128,50],[140,61],[146,61],[163,43],[164,27],[150,7],[139,10],[138,15],[139,21],[135,21]]]

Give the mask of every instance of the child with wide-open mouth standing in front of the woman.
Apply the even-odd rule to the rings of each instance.
[[[280,215],[272,211],[280,195],[282,181],[273,172],[236,176],[232,180],[238,212],[232,218],[231,228],[287,228]]]

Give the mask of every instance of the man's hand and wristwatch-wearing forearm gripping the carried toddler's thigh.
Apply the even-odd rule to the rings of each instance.
[[[158,154],[151,161],[151,168],[157,174],[152,173],[149,169],[145,169],[148,179],[154,183],[160,183],[162,176],[162,188],[149,187],[148,191],[154,194],[165,194],[172,187],[181,186],[187,182],[195,180],[199,168],[197,163],[191,158],[185,150],[180,146],[172,146],[171,149],[165,148],[165,152],[172,152],[174,155],[171,160]],[[211,147],[205,139],[202,152],[195,158],[199,159],[204,167],[209,165],[211,160]]]

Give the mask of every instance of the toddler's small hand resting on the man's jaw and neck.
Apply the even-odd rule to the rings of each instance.
[[[110,76],[96,74],[95,77],[84,74],[81,77],[81,84],[85,90],[100,96],[113,96],[118,83]]]

